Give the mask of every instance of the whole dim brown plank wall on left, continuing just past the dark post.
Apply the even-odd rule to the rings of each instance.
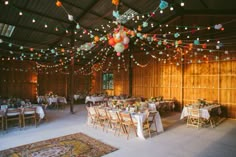
[[[36,100],[37,95],[53,91],[60,96],[68,96],[67,74],[38,74],[34,62],[1,61],[0,63],[0,96],[18,97]],[[90,76],[74,75],[74,93],[87,92]]]

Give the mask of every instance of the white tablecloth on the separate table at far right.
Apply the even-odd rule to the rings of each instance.
[[[183,119],[184,117],[187,117],[189,115],[188,109],[191,108],[192,106],[185,106],[183,108],[183,111],[181,113],[180,119]],[[205,118],[205,119],[209,119],[210,118],[210,111],[213,108],[218,108],[218,113],[221,113],[221,109],[220,109],[220,105],[210,105],[210,106],[206,106],[203,108],[200,108],[200,117]]]

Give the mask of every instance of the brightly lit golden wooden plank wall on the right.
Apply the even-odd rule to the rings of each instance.
[[[141,61],[140,61],[141,62]],[[205,98],[227,108],[236,118],[236,61],[176,66],[152,59],[146,67],[133,66],[133,96],[175,98],[181,105]],[[183,67],[182,67],[183,66]],[[128,93],[128,72],[114,71],[114,95]]]

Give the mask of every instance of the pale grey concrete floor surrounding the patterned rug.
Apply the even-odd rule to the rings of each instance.
[[[101,128],[92,128],[86,124],[85,105],[75,105],[75,114],[64,111],[47,111],[48,121],[37,128],[28,126],[23,130],[12,128],[8,132],[0,131],[0,150],[46,140],[67,134],[83,132],[119,150],[106,157],[235,157],[236,156],[236,120],[227,119],[216,128],[187,128],[180,113],[162,116],[165,131],[147,138],[139,139],[131,135],[114,136],[112,132],[103,132]]]

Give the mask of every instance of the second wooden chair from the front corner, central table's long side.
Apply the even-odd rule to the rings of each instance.
[[[109,117],[110,126],[114,130],[114,135],[116,135],[117,131],[119,131],[118,132],[118,135],[119,135],[120,130],[121,130],[121,120],[119,117],[119,113],[116,111],[108,111],[107,113],[108,113],[108,117]]]

